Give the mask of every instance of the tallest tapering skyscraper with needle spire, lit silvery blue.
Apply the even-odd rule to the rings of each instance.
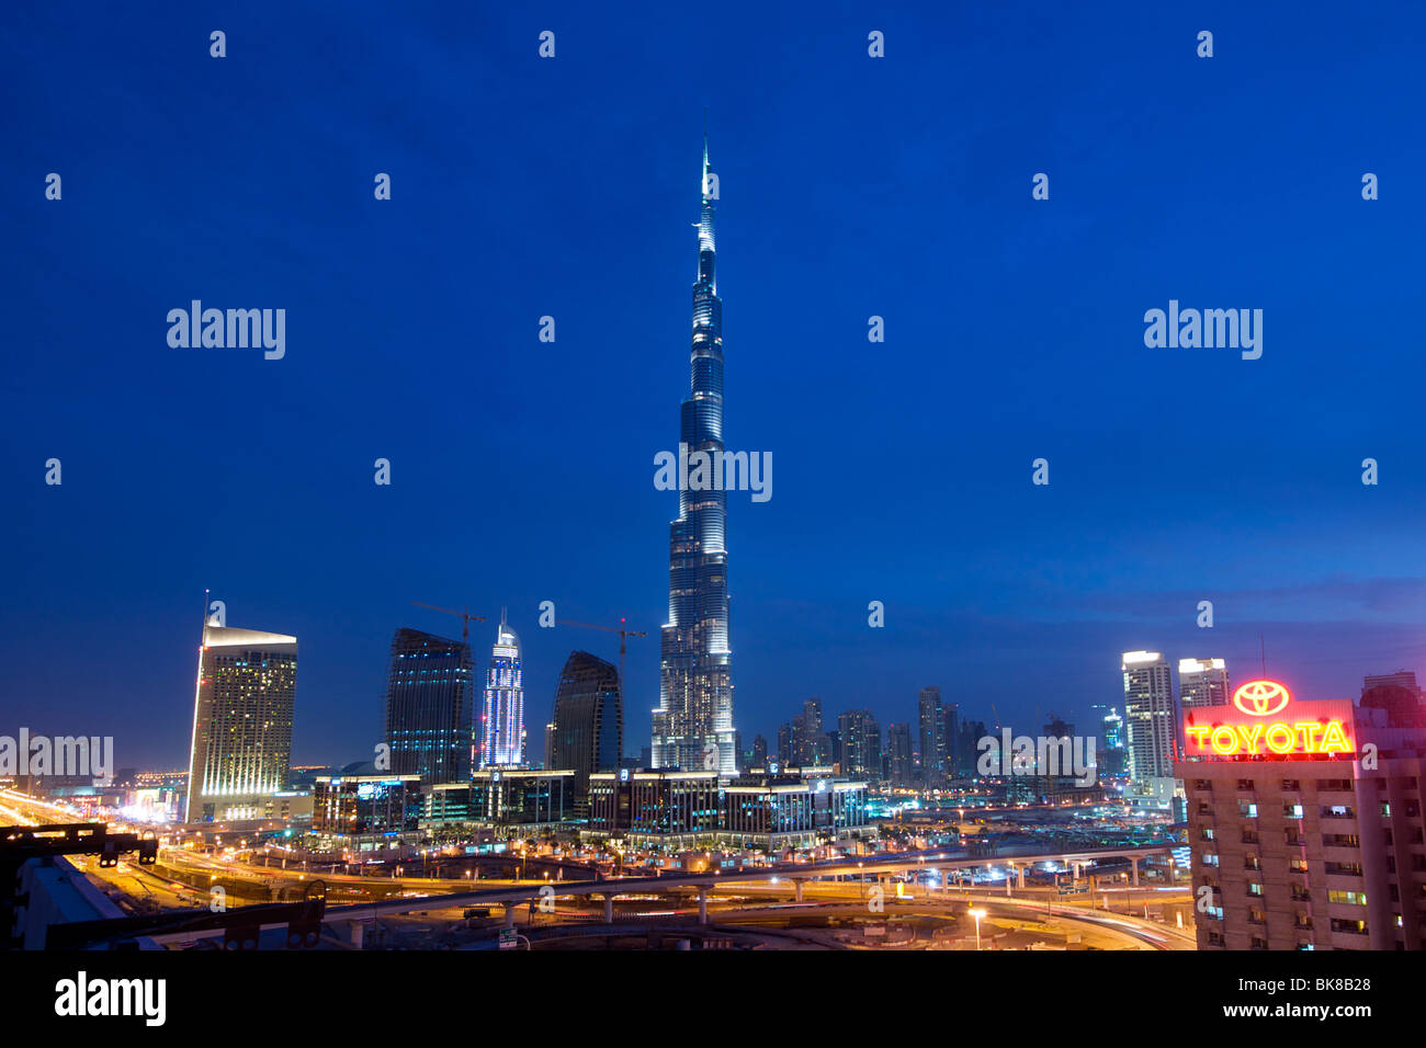
[[[703,134],[699,268],[693,284],[690,394],[679,425],[679,518],[669,525],[669,622],[660,646],[653,766],[737,773],[727,627],[727,492],[693,489],[683,463],[703,452],[723,469],[723,301],[713,235],[714,180]]]

